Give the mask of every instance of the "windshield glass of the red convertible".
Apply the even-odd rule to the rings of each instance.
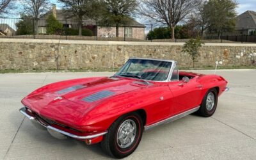
[[[166,81],[172,62],[130,59],[115,76],[134,77],[150,81]]]

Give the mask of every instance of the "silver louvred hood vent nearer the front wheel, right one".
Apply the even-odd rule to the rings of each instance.
[[[95,101],[100,100],[100,99],[104,99],[106,97],[110,97],[113,94],[114,94],[114,92],[104,90],[104,91],[97,92],[97,93],[94,93],[92,95],[89,95],[88,97],[84,97],[82,100],[84,102],[89,102],[90,103],[90,102],[95,102]]]

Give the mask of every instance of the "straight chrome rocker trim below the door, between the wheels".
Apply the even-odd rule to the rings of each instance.
[[[169,122],[173,122],[173,121],[175,121],[179,118],[182,118],[184,116],[190,115],[191,113],[194,113],[194,112],[198,111],[199,108],[200,108],[200,106],[197,106],[196,108],[189,109],[188,111],[180,113],[179,115],[174,115],[174,116],[171,116],[169,118],[166,118],[165,120],[161,120],[160,122],[156,122],[155,124],[145,125],[144,126],[144,131],[148,131],[149,129],[152,129],[153,127],[156,127],[158,125],[167,124]]]

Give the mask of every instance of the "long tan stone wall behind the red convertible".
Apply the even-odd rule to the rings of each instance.
[[[182,43],[0,39],[0,69],[118,68],[132,57],[176,60],[191,67]],[[196,67],[255,65],[256,44],[205,44]]]

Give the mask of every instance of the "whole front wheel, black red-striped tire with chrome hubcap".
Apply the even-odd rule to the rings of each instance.
[[[136,126],[135,126],[136,125]],[[122,126],[122,127],[121,127]],[[136,129],[133,132],[132,128]],[[128,134],[123,134],[129,131]],[[143,132],[143,121],[138,113],[129,113],[120,116],[108,129],[108,133],[101,142],[101,147],[109,156],[116,158],[124,158],[132,154],[138,147]],[[125,137],[120,138],[120,137]],[[120,138],[120,139],[118,139]],[[122,143],[122,141],[123,143]],[[127,141],[126,141],[127,140]],[[129,142],[129,143],[127,143]],[[125,145],[126,144],[126,145]]]

